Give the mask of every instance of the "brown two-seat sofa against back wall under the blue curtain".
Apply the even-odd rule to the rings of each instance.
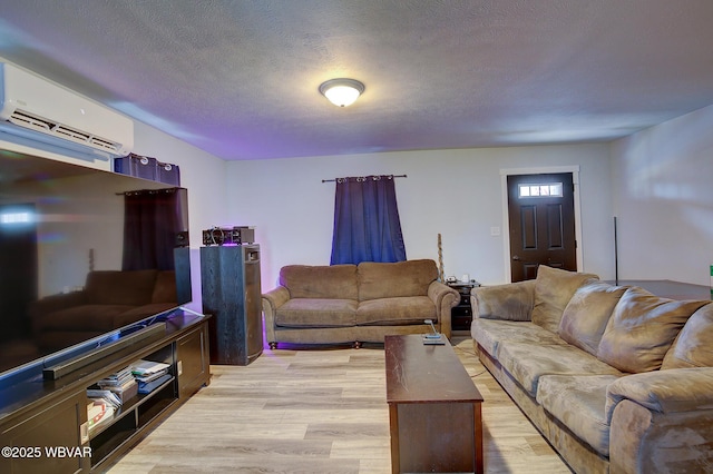
[[[438,282],[429,259],[393,264],[306,266],[280,270],[280,286],[263,295],[265,335],[277,343],[382,343],[387,334],[437,330],[450,337],[457,290]]]

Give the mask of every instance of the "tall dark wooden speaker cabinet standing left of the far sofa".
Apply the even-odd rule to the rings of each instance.
[[[211,364],[247,365],[263,352],[260,245],[201,247]]]

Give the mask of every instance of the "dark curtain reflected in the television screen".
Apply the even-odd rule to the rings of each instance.
[[[124,270],[174,269],[176,238],[183,230],[183,188],[124,195]]]

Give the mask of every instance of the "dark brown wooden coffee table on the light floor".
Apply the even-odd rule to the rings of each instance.
[[[450,343],[385,336],[391,472],[482,473],[478,392]]]

